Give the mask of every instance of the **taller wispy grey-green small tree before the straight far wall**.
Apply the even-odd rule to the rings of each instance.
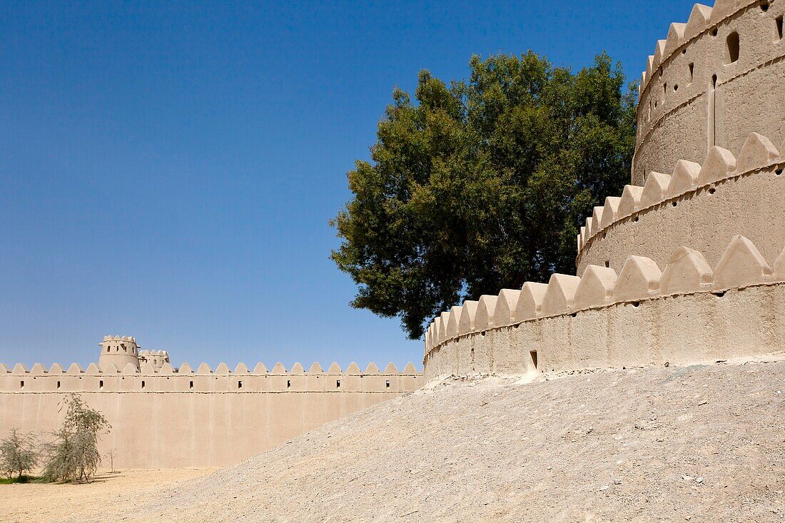
[[[66,409],[54,441],[46,444],[44,477],[49,481],[89,481],[100,463],[98,437],[111,426],[99,411],[89,408],[79,394],[64,397]]]

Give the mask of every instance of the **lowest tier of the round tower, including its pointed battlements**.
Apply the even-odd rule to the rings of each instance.
[[[785,249],[767,260],[744,236],[732,239],[714,267],[689,247],[677,248],[662,267],[630,256],[618,273],[590,265],[580,277],[553,274],[547,284],[527,282],[520,291],[453,307],[428,327],[425,375],[622,367],[785,350],[783,295]],[[759,332],[750,335],[739,321]],[[703,334],[691,338],[695,331]],[[701,344],[706,332],[713,341]]]

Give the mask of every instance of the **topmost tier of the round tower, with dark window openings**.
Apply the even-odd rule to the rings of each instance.
[[[752,131],[785,139],[783,14],[782,2],[717,0],[670,25],[641,75],[633,184],[715,145],[738,150]]]

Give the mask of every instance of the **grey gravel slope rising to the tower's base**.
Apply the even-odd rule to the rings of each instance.
[[[785,521],[783,490],[772,360],[448,380],[73,521]]]

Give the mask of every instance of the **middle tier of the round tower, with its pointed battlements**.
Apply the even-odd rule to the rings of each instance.
[[[679,160],[671,174],[652,173],[644,186],[594,207],[577,237],[579,272],[588,265],[619,269],[629,253],[664,263],[691,244],[716,263],[737,234],[772,255],[785,229],[785,144],[750,133],[738,158],[713,147],[703,163]]]

